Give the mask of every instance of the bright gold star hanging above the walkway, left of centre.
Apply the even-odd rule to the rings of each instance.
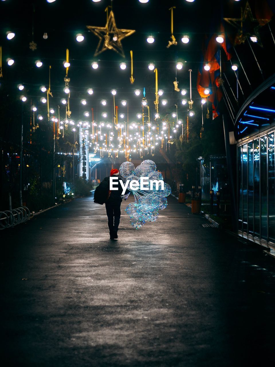
[[[106,50],[113,50],[125,57],[121,40],[131,36],[135,32],[133,29],[118,29],[115,24],[113,11],[110,11],[105,27],[96,27],[87,25],[87,28],[99,38],[98,47],[95,55],[97,56]]]

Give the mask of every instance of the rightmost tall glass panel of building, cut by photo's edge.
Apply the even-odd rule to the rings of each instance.
[[[268,237],[275,243],[275,162],[274,132],[268,135]]]

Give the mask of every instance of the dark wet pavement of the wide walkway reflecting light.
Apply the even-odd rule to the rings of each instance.
[[[4,366],[274,366],[274,258],[173,197],[122,215],[118,240],[91,197],[0,232]]]

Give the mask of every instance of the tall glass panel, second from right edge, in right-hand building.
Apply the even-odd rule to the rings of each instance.
[[[267,137],[260,138],[261,238],[267,240]]]

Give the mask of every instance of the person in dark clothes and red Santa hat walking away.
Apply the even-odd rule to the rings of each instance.
[[[120,172],[115,168],[110,171],[110,177],[118,177],[119,174]],[[105,177],[103,181],[110,182],[110,177]],[[117,180],[117,185],[114,185],[115,187],[118,187],[118,190],[109,190],[109,198],[105,202],[111,240],[118,238],[117,231],[118,226],[120,224],[120,215],[121,215],[120,206],[122,201],[121,194],[123,190],[120,181],[122,181],[121,178]],[[126,189],[125,195],[128,194],[129,192],[130,191]]]

